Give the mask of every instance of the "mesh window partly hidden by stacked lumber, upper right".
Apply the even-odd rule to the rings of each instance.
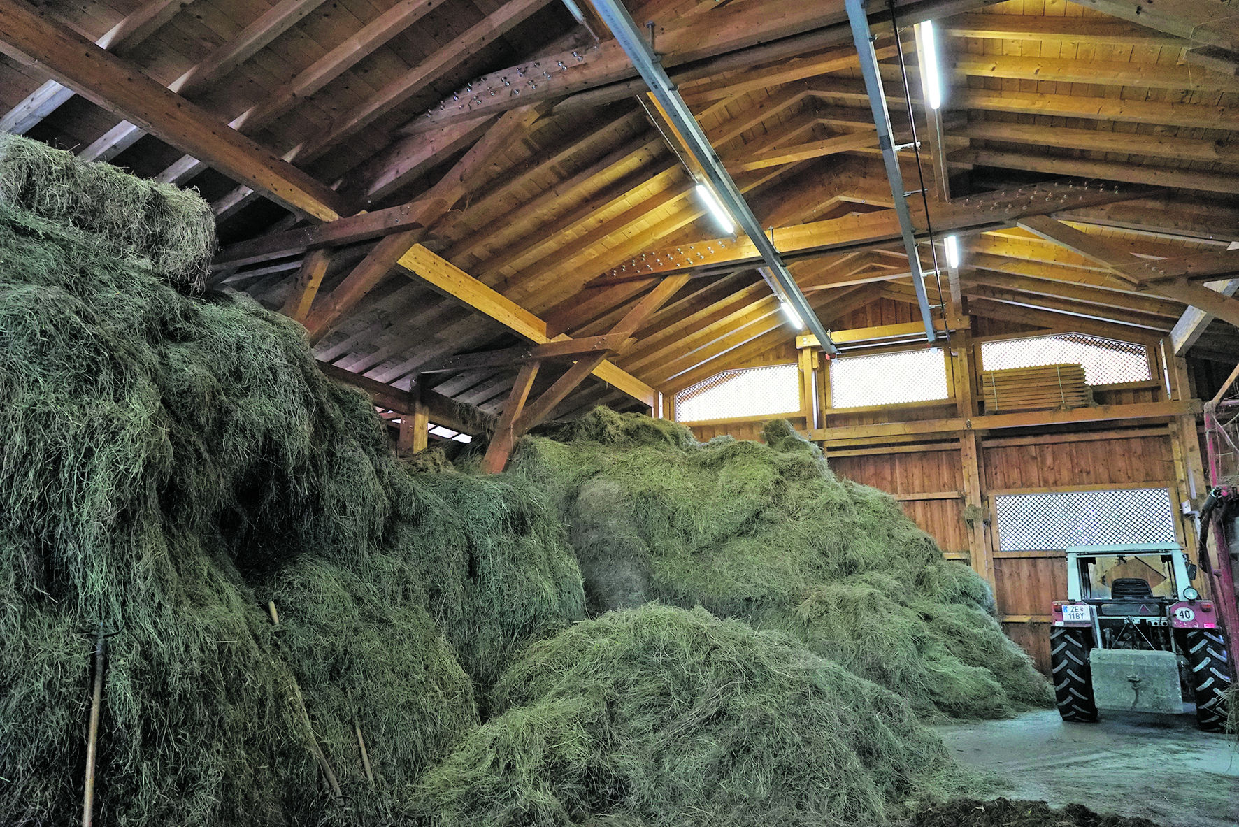
[[[1152,379],[1149,348],[1131,342],[1062,333],[981,343],[981,370],[1040,365],[1084,365],[1084,381],[1089,385]]]

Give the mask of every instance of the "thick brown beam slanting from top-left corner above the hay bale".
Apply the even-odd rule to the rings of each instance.
[[[0,0],[0,52],[47,69],[82,97],[182,152],[208,158],[224,175],[265,192],[289,209],[320,220],[339,217],[338,197],[332,189],[116,56],[55,25],[25,0]]]

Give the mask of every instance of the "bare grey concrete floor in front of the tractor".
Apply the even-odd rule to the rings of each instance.
[[[957,758],[991,770],[1009,799],[1083,803],[1163,827],[1239,825],[1239,744],[1202,733],[1193,716],[1103,712],[1064,724],[1058,712],[938,727]]]

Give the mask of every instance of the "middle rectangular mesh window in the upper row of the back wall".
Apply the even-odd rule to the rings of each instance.
[[[947,399],[943,352],[904,350],[830,360],[830,406],[862,407]]]

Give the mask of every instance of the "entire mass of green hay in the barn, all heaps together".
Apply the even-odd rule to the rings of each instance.
[[[99,628],[102,827],[867,823],[959,782],[781,633],[646,607],[522,656],[585,615],[577,560],[598,612],[788,629],[924,711],[1036,695],[984,584],[789,431],[598,411],[510,474],[408,465],[297,324],[186,295],[212,245],[197,196],[0,137],[0,823],[77,817]],[[880,577],[911,649],[823,619]]]

